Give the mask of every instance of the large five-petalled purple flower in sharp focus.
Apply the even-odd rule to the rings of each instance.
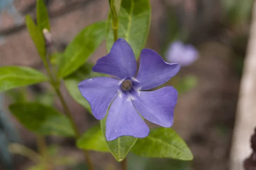
[[[166,83],[179,69],[179,64],[166,63],[153,50],[143,49],[135,78],[137,64],[134,52],[124,39],[119,38],[110,53],[93,66],[94,72],[116,78],[90,78],[81,81],[78,87],[95,118],[104,118],[110,107],[106,121],[108,141],[123,135],[145,138],[149,128],[140,115],[162,127],[171,127],[177,102],[177,90],[172,86],[145,90]]]

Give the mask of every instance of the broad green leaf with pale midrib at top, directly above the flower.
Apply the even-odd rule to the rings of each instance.
[[[113,0],[112,0],[113,1]],[[112,3],[111,1],[111,3]],[[113,43],[112,15],[108,16],[106,45],[108,52]],[[149,0],[122,0],[119,11],[118,37],[124,38],[138,58],[144,48],[151,20]]]

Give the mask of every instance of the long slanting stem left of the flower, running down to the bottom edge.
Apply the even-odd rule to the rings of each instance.
[[[67,103],[66,101],[64,100],[64,97],[63,95],[61,94],[61,91],[59,89],[59,82],[55,81],[54,77],[52,76],[52,72],[49,68],[49,65],[47,62],[44,62],[44,65],[46,67],[46,70],[47,70],[47,74],[49,75],[49,78],[50,78],[50,81],[51,81],[51,84],[52,84],[52,87],[55,89],[55,92],[57,93],[58,95],[58,98],[60,99],[61,101],[61,104],[63,106],[63,109],[64,109],[64,112],[66,113],[66,115],[68,116],[69,120],[70,120],[70,123],[73,127],[73,130],[75,131],[76,133],[76,139],[78,139],[80,137],[80,133],[79,133],[79,130],[76,126],[76,123],[72,117],[72,114],[67,106]],[[90,170],[94,170],[93,168],[93,164],[92,164],[92,161],[90,160],[90,155],[89,155],[89,152],[87,150],[84,149],[84,156],[85,156],[85,159],[86,159],[86,162],[87,162],[87,165],[89,167]]]

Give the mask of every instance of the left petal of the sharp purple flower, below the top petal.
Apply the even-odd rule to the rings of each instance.
[[[79,83],[78,88],[96,119],[101,120],[107,114],[108,107],[119,93],[119,83],[118,79],[107,77],[90,78]]]

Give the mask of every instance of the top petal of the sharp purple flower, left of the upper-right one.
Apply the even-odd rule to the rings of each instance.
[[[113,75],[119,79],[134,77],[137,64],[131,46],[125,39],[119,38],[113,44],[110,53],[100,58],[93,66],[93,72]]]

